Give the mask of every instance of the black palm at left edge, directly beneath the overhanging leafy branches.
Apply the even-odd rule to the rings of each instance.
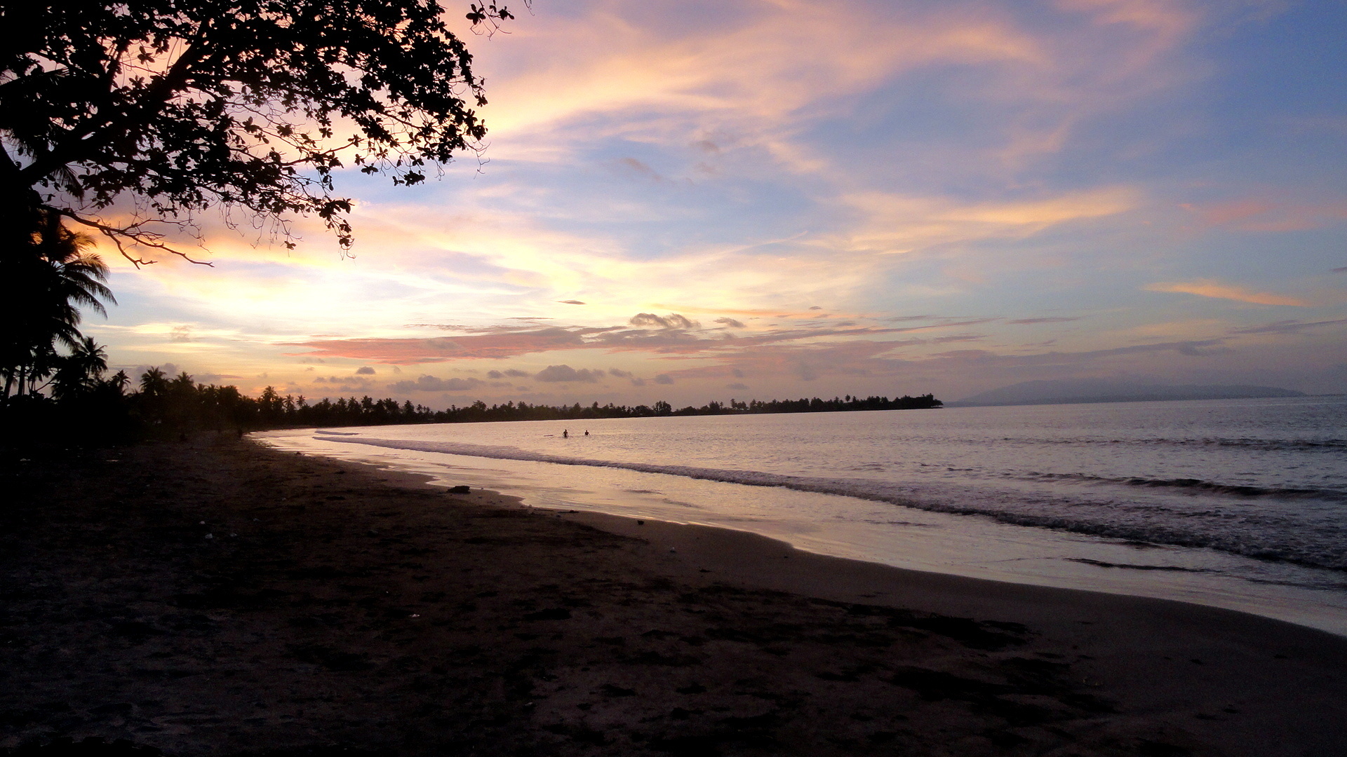
[[[53,213],[20,244],[0,248],[0,374],[4,399],[36,391],[57,368],[57,346],[77,350],[79,308],[106,315],[116,303],[104,284],[108,265],[86,252],[93,240]]]

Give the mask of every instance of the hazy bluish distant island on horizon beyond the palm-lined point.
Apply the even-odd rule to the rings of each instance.
[[[1157,400],[1235,400],[1254,397],[1303,397],[1304,392],[1277,387],[1144,384],[1117,378],[1057,378],[1022,381],[946,407],[1047,405],[1078,403],[1140,403]]]

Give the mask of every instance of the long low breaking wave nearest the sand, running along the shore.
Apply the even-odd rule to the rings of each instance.
[[[1230,512],[1219,506],[1203,511],[1175,511],[1146,502],[1098,502],[1052,494],[989,492],[962,485],[907,485],[857,478],[787,475],[757,470],[602,461],[461,442],[392,440],[365,436],[322,436],[321,439],[396,450],[613,467],[746,486],[776,486],[796,492],[888,502],[929,512],[985,516],[1014,525],[1052,528],[1152,544],[1211,548],[1249,558],[1347,571],[1347,527],[1340,524],[1340,519],[1323,524],[1305,524],[1284,515]]]

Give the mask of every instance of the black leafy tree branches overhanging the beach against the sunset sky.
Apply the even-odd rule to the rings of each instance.
[[[179,253],[163,224],[220,206],[290,246],[291,218],[318,216],[349,246],[334,171],[415,185],[486,133],[471,55],[442,13],[436,0],[0,5],[0,242],[51,214],[140,264],[147,248]],[[509,18],[494,3],[469,13]]]

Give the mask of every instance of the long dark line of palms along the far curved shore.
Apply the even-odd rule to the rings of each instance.
[[[310,426],[384,426],[404,423],[473,423],[493,420],[583,420],[598,418],[657,418],[675,415],[750,415],[768,412],[835,412],[862,409],[917,409],[940,407],[932,395],[902,397],[819,397],[799,400],[730,400],[675,409],[667,401],[652,405],[544,405],[509,401],[431,409],[393,399],[338,397],[310,401],[280,395],[267,387],[249,397],[237,387],[198,384],[187,373],[170,378],[158,368],[132,385],[117,372],[104,377],[101,361],[78,372],[79,380],[54,383],[53,392],[11,396],[0,401],[0,419],[13,428],[84,436],[168,436],[194,431],[253,431]]]

